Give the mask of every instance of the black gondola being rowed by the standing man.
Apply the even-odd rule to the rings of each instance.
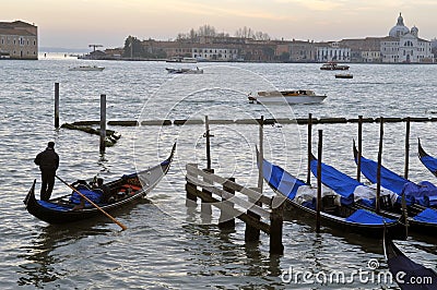
[[[175,149],[176,143],[173,145],[169,157],[160,165],[140,172],[122,176],[117,180],[105,183],[113,198],[105,202],[92,200],[92,202],[95,202],[101,209],[108,213],[142,198],[152,191],[167,173]],[[27,212],[40,220],[48,223],[67,223],[102,216],[101,210],[87,202],[84,204],[83,208],[76,209],[80,204],[80,196],[75,194],[75,192],[49,201],[36,200],[35,183],[36,180],[34,180],[31,190],[24,198],[24,204],[26,205]],[[90,189],[84,181],[74,182],[73,189],[85,194],[87,197],[96,193],[96,191]]]

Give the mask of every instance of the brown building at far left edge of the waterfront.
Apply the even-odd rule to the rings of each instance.
[[[38,59],[37,26],[22,21],[0,22],[0,58]]]

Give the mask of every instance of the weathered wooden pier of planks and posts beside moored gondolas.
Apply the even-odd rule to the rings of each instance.
[[[263,231],[270,235],[270,253],[283,254],[283,197],[268,197],[258,188],[245,188],[232,178],[212,173],[213,170],[201,170],[196,164],[187,164],[186,168],[188,207],[196,207],[200,198],[202,215],[211,215],[212,206],[221,210],[221,229],[233,229],[237,218],[246,222],[246,242],[259,241]]]

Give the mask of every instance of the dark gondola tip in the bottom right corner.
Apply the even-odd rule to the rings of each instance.
[[[437,274],[405,256],[386,235],[383,237],[383,253],[391,276],[402,290],[436,289]]]

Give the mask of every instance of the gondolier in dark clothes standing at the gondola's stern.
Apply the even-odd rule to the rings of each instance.
[[[47,148],[36,156],[34,162],[39,166],[42,171],[40,200],[48,201],[54,190],[56,170],[59,167],[59,156],[55,152],[55,143],[49,142]]]

